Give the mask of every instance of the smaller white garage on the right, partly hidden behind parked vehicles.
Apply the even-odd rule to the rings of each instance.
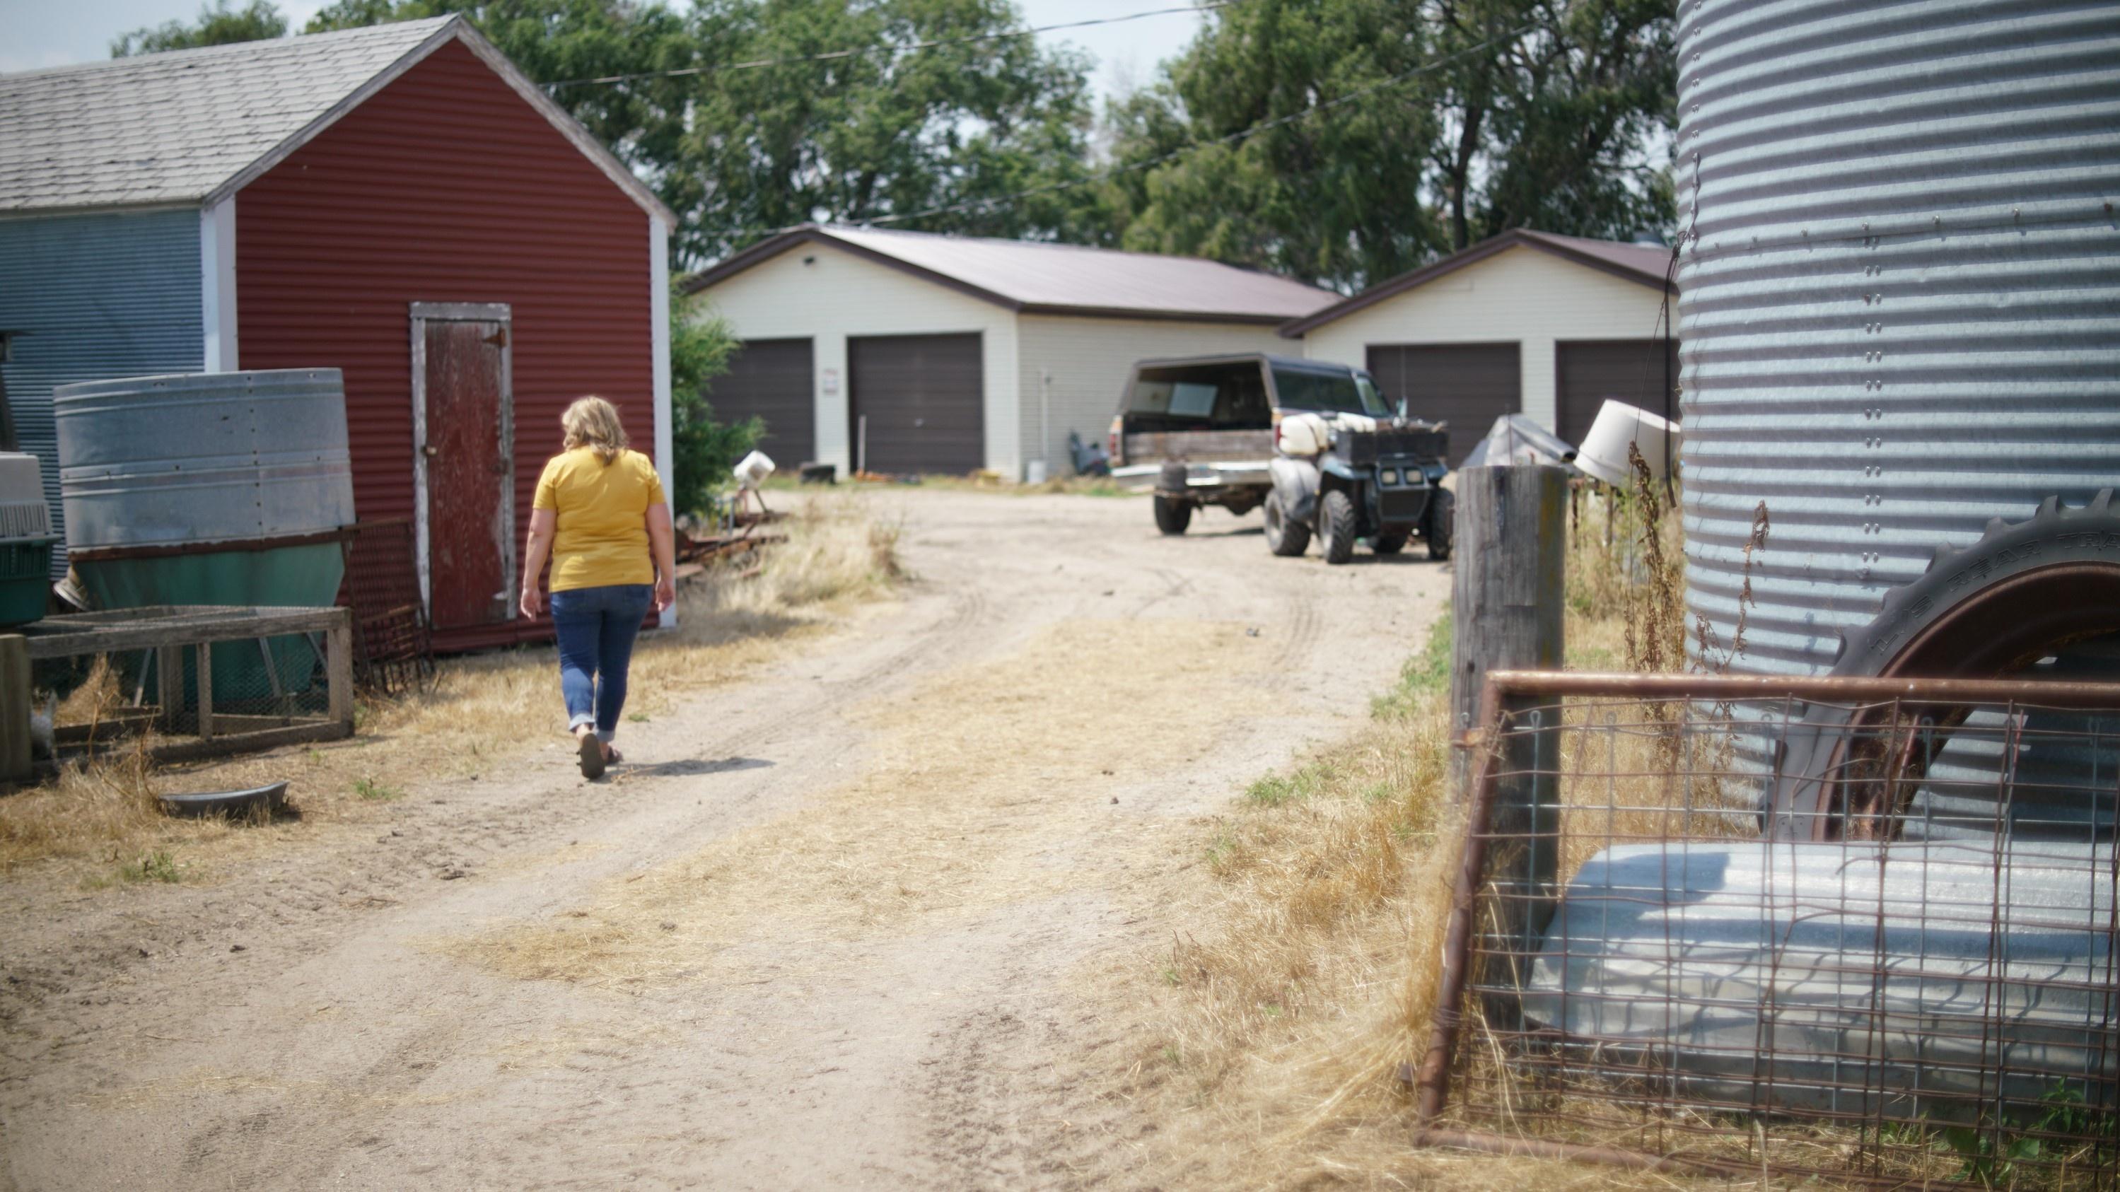
[[[1671,248],[1505,231],[1291,320],[1304,356],[1365,367],[1418,418],[1450,424],[1450,462],[1495,418],[1529,414],[1579,443],[1607,397],[1679,416],[1662,335]],[[1677,301],[1673,301],[1677,310]],[[1668,397],[1668,405],[1666,405]]]

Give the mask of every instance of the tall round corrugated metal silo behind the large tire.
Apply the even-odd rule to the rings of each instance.
[[[1823,672],[2120,486],[2120,8],[1685,0],[1679,53],[1688,604],[1728,651],[1764,503],[1728,666]]]

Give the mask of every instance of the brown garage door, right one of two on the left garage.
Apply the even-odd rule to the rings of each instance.
[[[848,435],[867,469],[960,475],[986,467],[979,335],[867,335],[846,341]]]

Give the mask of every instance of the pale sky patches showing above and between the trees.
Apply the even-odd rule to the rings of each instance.
[[[329,0],[278,0],[301,28]],[[1030,25],[1119,17],[1172,8],[1185,0],[1018,0]],[[110,57],[110,40],[140,25],[191,19],[199,0],[0,0],[0,70],[32,70]],[[1185,49],[1202,17],[1172,13],[1117,25],[1043,34],[1047,45],[1075,45],[1096,57],[1092,85],[1100,95],[1124,93],[1155,78],[1155,64]]]

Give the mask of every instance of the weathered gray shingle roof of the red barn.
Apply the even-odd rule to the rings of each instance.
[[[449,21],[0,74],[0,210],[204,199]]]

